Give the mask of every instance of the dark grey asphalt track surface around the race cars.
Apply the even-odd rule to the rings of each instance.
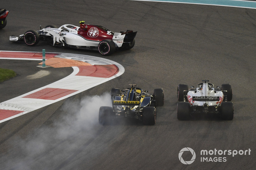
[[[124,66],[125,72],[66,100],[1,123],[1,169],[255,168],[255,9],[122,0],[69,2],[1,2],[10,12],[7,26],[0,30],[0,50],[46,49],[103,57],[97,51],[53,47],[44,42],[34,47],[9,42],[10,35],[38,30],[39,25],[79,25],[84,20],[114,32],[138,31],[134,48],[105,57]],[[35,61],[1,60],[1,68],[20,67],[14,69],[19,76],[0,84],[1,101],[72,72],[72,68],[49,68],[52,76],[26,82],[25,77],[38,69],[35,65]],[[214,85],[232,85],[232,121],[204,116],[177,120],[178,84],[195,86],[203,79]],[[136,121],[98,124],[98,109],[109,104],[109,90],[125,89],[131,83],[149,92],[164,89],[165,104],[157,108],[156,125]],[[17,93],[5,90],[6,86]],[[196,153],[190,165],[182,164],[178,157],[185,147]],[[234,157],[200,155],[201,150],[214,149],[251,152]],[[184,160],[191,157],[190,152],[182,154]],[[226,161],[202,162],[202,157]]]

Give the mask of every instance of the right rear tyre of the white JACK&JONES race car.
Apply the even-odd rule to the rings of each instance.
[[[220,106],[220,118],[222,120],[233,120],[234,104],[233,102],[222,102]]]

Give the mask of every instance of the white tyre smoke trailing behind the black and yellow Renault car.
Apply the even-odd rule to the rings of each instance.
[[[46,121],[43,127],[26,139],[16,139],[12,149],[7,151],[8,157],[1,154],[4,158],[1,169],[66,167],[80,152],[90,150],[86,147],[92,145],[92,140],[102,128],[98,122],[100,106],[112,106],[109,93],[87,96],[81,101],[67,100],[56,111],[66,116],[60,120],[48,120],[53,123]]]

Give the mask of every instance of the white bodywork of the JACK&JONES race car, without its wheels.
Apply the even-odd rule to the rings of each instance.
[[[210,86],[207,82],[197,86],[196,91],[189,90],[187,94],[188,102],[193,106],[203,106],[204,104],[219,106],[223,101],[223,97],[222,91],[214,91],[214,87]]]

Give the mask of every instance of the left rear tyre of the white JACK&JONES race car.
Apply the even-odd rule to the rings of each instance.
[[[177,118],[178,120],[189,120],[190,103],[189,102],[178,102],[177,104]]]

